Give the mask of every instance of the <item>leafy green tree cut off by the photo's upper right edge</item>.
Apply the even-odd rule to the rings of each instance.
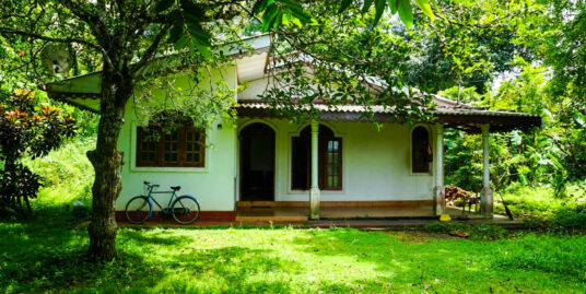
[[[586,1],[553,1],[552,13],[539,20],[548,42],[535,43],[552,69],[548,94],[559,106],[558,132],[550,138],[564,154],[570,174],[586,174]]]

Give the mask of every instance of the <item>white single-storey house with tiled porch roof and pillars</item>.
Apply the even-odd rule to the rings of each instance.
[[[222,120],[207,130],[187,126],[149,143],[129,102],[119,138],[125,164],[117,211],[122,212],[148,180],[161,187],[181,186],[180,192],[195,195],[202,210],[200,221],[270,220],[279,210],[280,220],[291,221],[440,215],[446,210],[444,129],[460,128],[482,133],[481,211],[490,217],[489,133],[541,125],[538,116],[473,108],[438,96],[433,122],[389,124],[392,109],[374,106],[374,118],[384,122],[377,130],[364,121],[362,106],[316,102],[314,107],[321,110],[318,119],[290,124],[258,98],[269,79],[268,36],[246,43],[254,48],[251,54],[233,50],[228,54],[233,64],[218,69],[235,90],[236,126]],[[236,91],[244,83],[248,86]],[[99,73],[48,84],[46,91],[96,111]],[[255,208],[269,212],[255,214]]]

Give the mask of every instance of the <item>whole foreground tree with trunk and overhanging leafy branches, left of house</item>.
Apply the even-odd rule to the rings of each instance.
[[[338,9],[329,11],[329,19],[355,13],[352,2],[337,3]],[[425,14],[433,15],[429,0],[417,3]],[[48,43],[68,44],[90,56],[85,68],[102,72],[97,144],[87,153],[95,169],[89,226],[89,255],[94,260],[112,260],[116,255],[114,203],[121,188],[117,142],[125,106],[137,83],[145,79],[145,67],[164,52],[184,49],[191,56],[191,63],[204,67],[215,56],[213,44],[237,37],[238,20],[261,15],[262,31],[286,28],[298,34],[300,27],[319,22],[307,9],[324,8],[320,3],[302,5],[294,0],[2,0],[0,5],[4,11],[0,15],[0,35],[30,47],[30,61],[38,62],[35,52]],[[362,13],[368,13],[373,5],[372,24],[379,21],[388,7],[392,14],[398,13],[406,24],[412,25],[409,0],[364,1]],[[312,31],[312,26],[307,27]],[[300,49],[294,42],[288,44]]]

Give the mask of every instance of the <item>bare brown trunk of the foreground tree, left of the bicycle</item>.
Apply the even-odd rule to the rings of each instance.
[[[95,261],[109,261],[116,257],[115,204],[121,189],[122,163],[118,136],[124,125],[125,105],[132,93],[131,80],[119,71],[103,71],[97,143],[94,151],[87,152],[95,170],[87,254]]]

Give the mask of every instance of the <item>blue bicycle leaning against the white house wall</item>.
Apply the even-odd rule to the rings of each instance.
[[[149,190],[146,196],[132,197],[126,203],[126,219],[132,224],[142,224],[146,222],[153,215],[153,201],[161,209],[164,215],[172,215],[176,222],[180,224],[191,224],[199,217],[199,203],[194,196],[181,195],[177,196],[177,191],[181,189],[180,186],[172,186],[172,191],[153,191],[154,188],[159,188],[160,185],[149,181],[143,183]],[[153,195],[167,193],[171,195],[168,204],[163,208]]]

